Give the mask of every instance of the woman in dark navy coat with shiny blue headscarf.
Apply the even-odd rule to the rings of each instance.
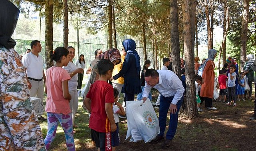
[[[140,57],[136,49],[136,43],[132,39],[123,41],[123,47],[127,53],[123,62],[123,67],[120,72],[113,76],[116,80],[119,77],[124,77],[122,93],[125,93],[124,101],[133,101],[134,95],[141,93],[141,83],[139,73],[141,70]]]

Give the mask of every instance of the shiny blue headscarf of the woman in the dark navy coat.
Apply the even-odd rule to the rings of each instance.
[[[125,52],[128,53],[133,53],[136,59],[136,68],[137,68],[137,73],[139,74],[139,72],[141,71],[141,64],[139,62],[139,60],[141,60],[141,58],[139,57],[138,52],[135,50],[136,49],[136,43],[134,40],[132,39],[125,39],[123,41],[123,47],[125,48]]]

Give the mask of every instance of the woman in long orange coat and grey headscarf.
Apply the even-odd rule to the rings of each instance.
[[[202,65],[202,78],[204,79],[204,83],[202,84],[200,97],[201,103],[204,101],[204,105],[208,109],[216,110],[217,108],[212,106],[212,98],[213,98],[213,88],[214,88],[214,68],[215,64],[213,62],[214,58],[217,56],[217,50],[210,49],[208,50],[208,58],[205,60]]]

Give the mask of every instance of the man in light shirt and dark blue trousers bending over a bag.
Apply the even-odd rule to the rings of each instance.
[[[166,134],[162,148],[171,146],[171,140],[175,136],[178,125],[178,112],[183,102],[184,87],[179,77],[170,70],[149,69],[145,72],[145,87],[143,91],[143,101],[147,100],[151,88],[157,89],[161,93],[159,108],[160,134],[151,143],[157,143],[165,138],[165,126],[167,112],[170,108],[169,130]]]

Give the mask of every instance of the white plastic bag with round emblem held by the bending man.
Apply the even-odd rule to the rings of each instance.
[[[160,133],[157,114],[149,99],[143,101],[127,101],[127,134],[126,140],[131,136],[130,142],[144,140],[145,143],[154,139]]]

